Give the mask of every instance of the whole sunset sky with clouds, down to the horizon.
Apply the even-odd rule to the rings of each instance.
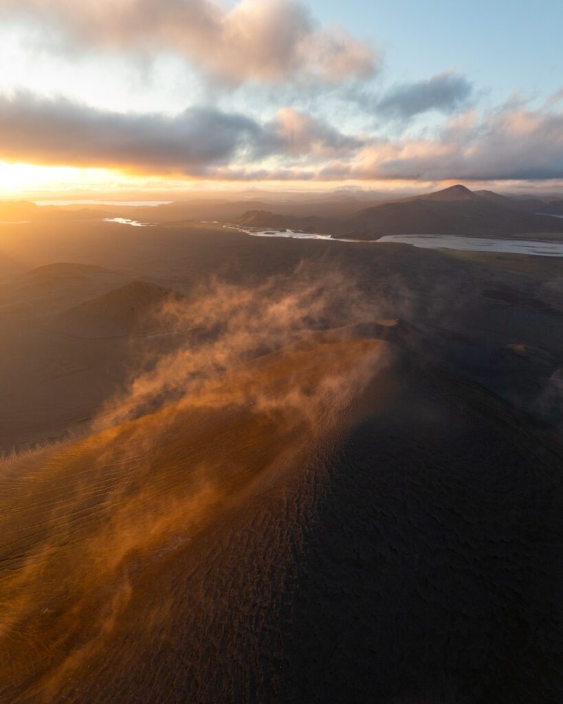
[[[563,3],[0,0],[0,198],[563,189]]]

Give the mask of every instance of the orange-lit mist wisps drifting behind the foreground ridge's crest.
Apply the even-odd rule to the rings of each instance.
[[[341,318],[343,309],[350,323],[374,313],[343,275],[332,272],[321,279],[307,267],[255,287],[212,279],[187,299],[165,301],[155,315],[166,327],[189,328],[192,334],[172,353],[145,360],[145,370],[132,373],[125,395],[108,401],[94,429],[137,417],[170,399],[192,403],[225,374],[221,383],[228,386],[229,373],[240,375],[241,364],[307,337],[311,329],[327,327]],[[302,402],[296,406],[306,407]]]

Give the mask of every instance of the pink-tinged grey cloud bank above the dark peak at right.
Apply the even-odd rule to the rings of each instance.
[[[563,113],[507,104],[450,120],[434,139],[372,139],[326,179],[540,180],[563,177]]]

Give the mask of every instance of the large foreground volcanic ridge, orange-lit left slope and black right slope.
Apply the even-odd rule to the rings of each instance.
[[[293,344],[4,468],[0,699],[558,704],[561,466],[416,356]]]

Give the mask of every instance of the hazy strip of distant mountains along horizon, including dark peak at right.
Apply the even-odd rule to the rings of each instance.
[[[219,221],[247,227],[323,232],[352,239],[384,234],[516,234],[560,232],[555,218],[563,201],[513,198],[494,191],[472,191],[456,184],[440,191],[386,199],[379,191],[328,194],[274,194],[243,191],[233,197],[202,196],[158,206],[38,206],[30,201],[0,201],[0,222],[96,220],[122,217],[141,222]],[[539,218],[539,219],[538,219]]]

